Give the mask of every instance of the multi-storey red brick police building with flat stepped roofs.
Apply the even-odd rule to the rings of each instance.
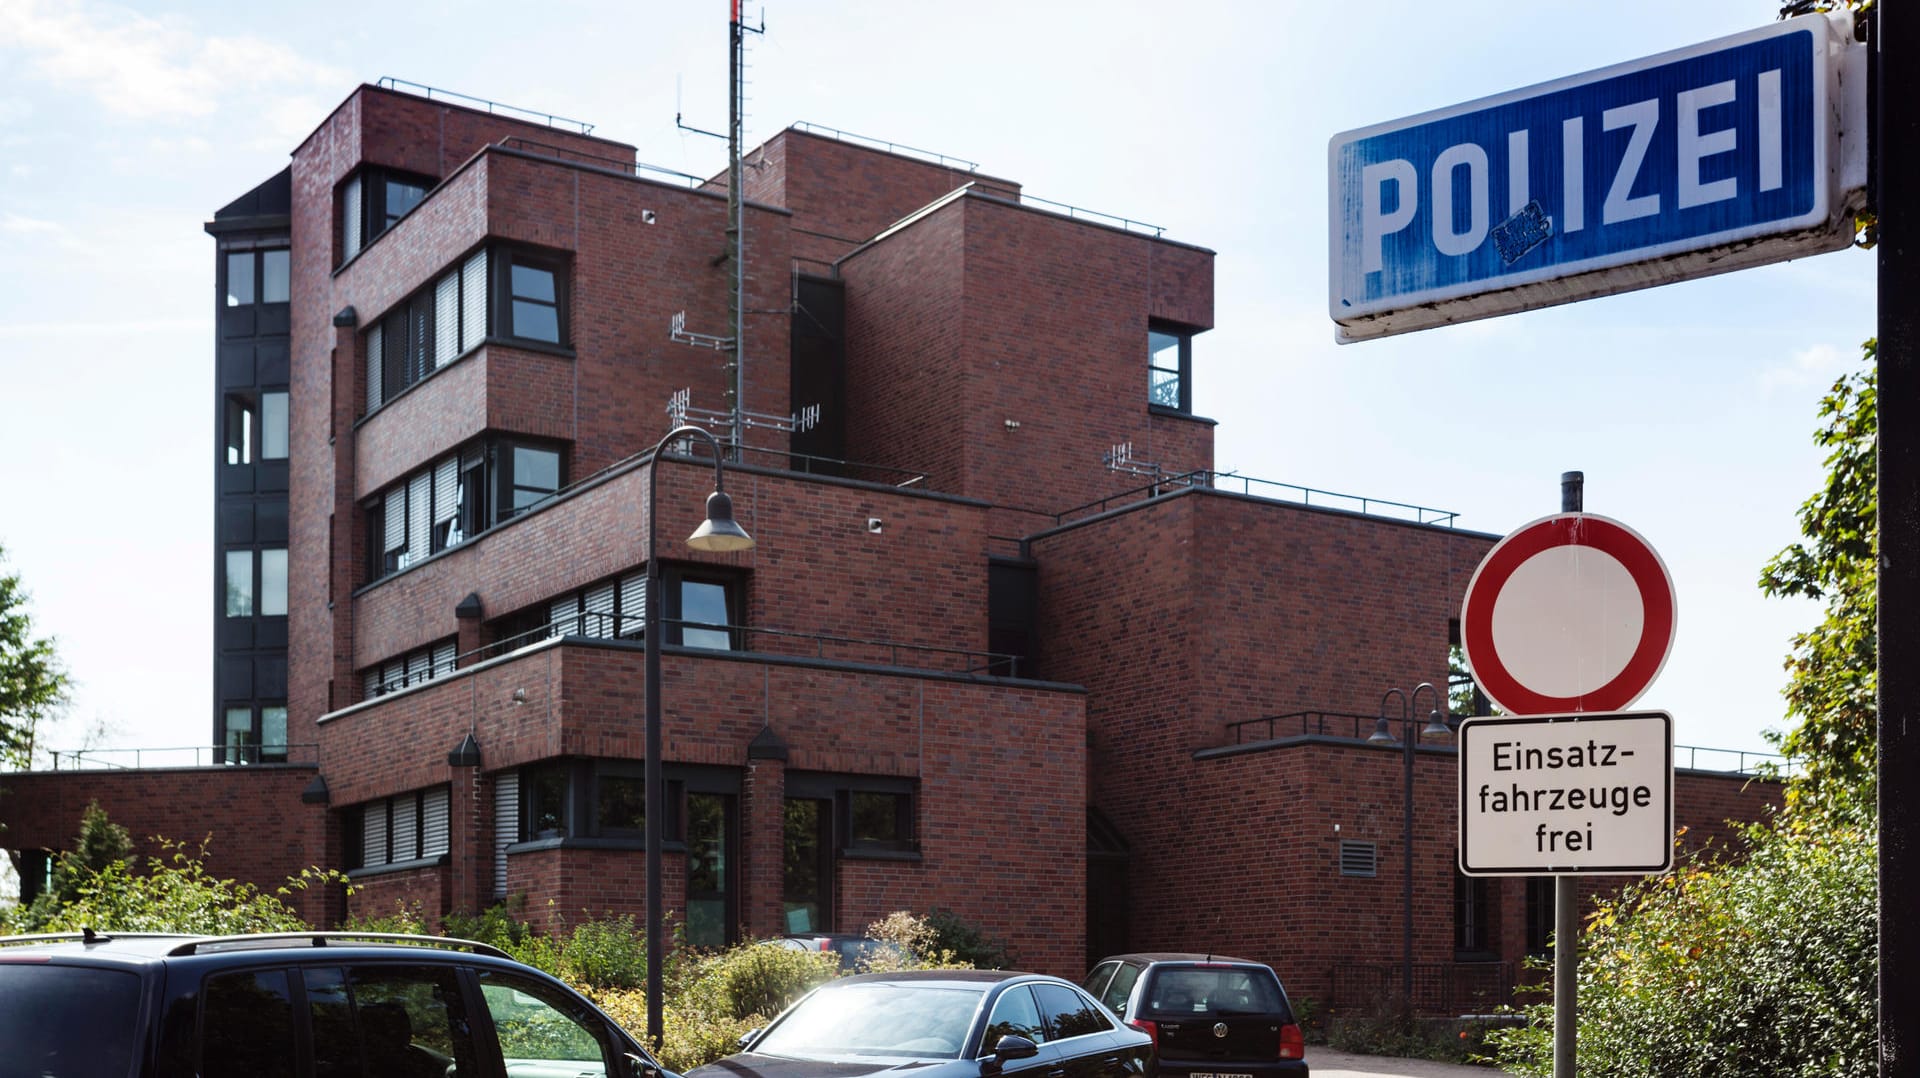
[[[726,190],[632,146],[361,86],[282,183],[284,701],[253,705],[284,744],[10,776],[29,878],[84,792],[211,830],[225,872],[348,869],[355,913],[639,915],[657,527],[687,940],[947,907],[1029,968],[1217,949],[1317,999],[1398,961],[1402,753],[1365,736],[1386,688],[1446,686],[1496,536],[1217,477],[1210,250],[789,129],[749,154],[747,329],[716,350]],[[655,523],[647,452],[735,359],[756,546],[695,553],[712,465],[668,452]],[[1423,978],[1511,982],[1536,888],[1457,876],[1452,749],[1417,763]],[[1695,836],[1770,797],[1678,786]]]

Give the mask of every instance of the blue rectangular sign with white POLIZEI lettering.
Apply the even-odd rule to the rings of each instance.
[[[1864,161],[1859,56],[1849,15],[1803,15],[1336,135],[1336,336],[1847,246],[1841,173]],[[1843,152],[1849,125],[1859,146]]]

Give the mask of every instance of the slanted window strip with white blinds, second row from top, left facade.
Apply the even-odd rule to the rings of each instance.
[[[486,248],[472,252],[367,329],[369,413],[486,340]]]

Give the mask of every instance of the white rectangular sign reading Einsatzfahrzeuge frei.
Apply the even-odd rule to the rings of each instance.
[[[1461,723],[1459,870],[1667,872],[1674,853],[1672,730],[1665,711]]]

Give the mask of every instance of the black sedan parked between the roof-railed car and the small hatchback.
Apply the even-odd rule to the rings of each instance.
[[[914,970],[828,982],[687,1078],[1152,1078],[1154,1043],[1071,982]]]

